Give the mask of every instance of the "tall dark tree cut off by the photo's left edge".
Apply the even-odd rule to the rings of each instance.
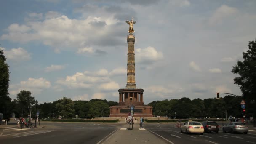
[[[0,49],[0,113],[3,113],[3,118],[9,118],[11,109],[9,105],[11,104],[11,98],[9,97],[9,66],[5,62],[5,56],[3,55],[3,50]]]

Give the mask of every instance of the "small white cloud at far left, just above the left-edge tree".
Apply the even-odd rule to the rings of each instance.
[[[13,48],[9,51],[4,49],[4,54],[6,59],[11,61],[27,61],[31,59],[30,53],[24,50],[24,48]]]

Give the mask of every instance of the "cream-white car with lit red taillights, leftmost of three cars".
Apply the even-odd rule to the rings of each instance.
[[[181,133],[200,133],[203,134],[204,128],[203,125],[199,122],[187,121],[181,125]]]

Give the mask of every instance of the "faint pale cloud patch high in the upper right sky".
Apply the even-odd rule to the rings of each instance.
[[[221,5],[221,7],[217,8],[213,13],[213,16],[209,19],[210,24],[221,24],[223,19],[234,15],[238,10],[234,7],[229,7],[227,5]]]

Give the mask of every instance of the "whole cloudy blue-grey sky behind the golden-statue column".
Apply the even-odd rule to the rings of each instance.
[[[40,103],[119,101],[134,17],[136,86],[144,103],[241,95],[231,72],[256,38],[255,0],[4,0],[0,48],[9,93]],[[224,94],[220,95],[225,96]]]

